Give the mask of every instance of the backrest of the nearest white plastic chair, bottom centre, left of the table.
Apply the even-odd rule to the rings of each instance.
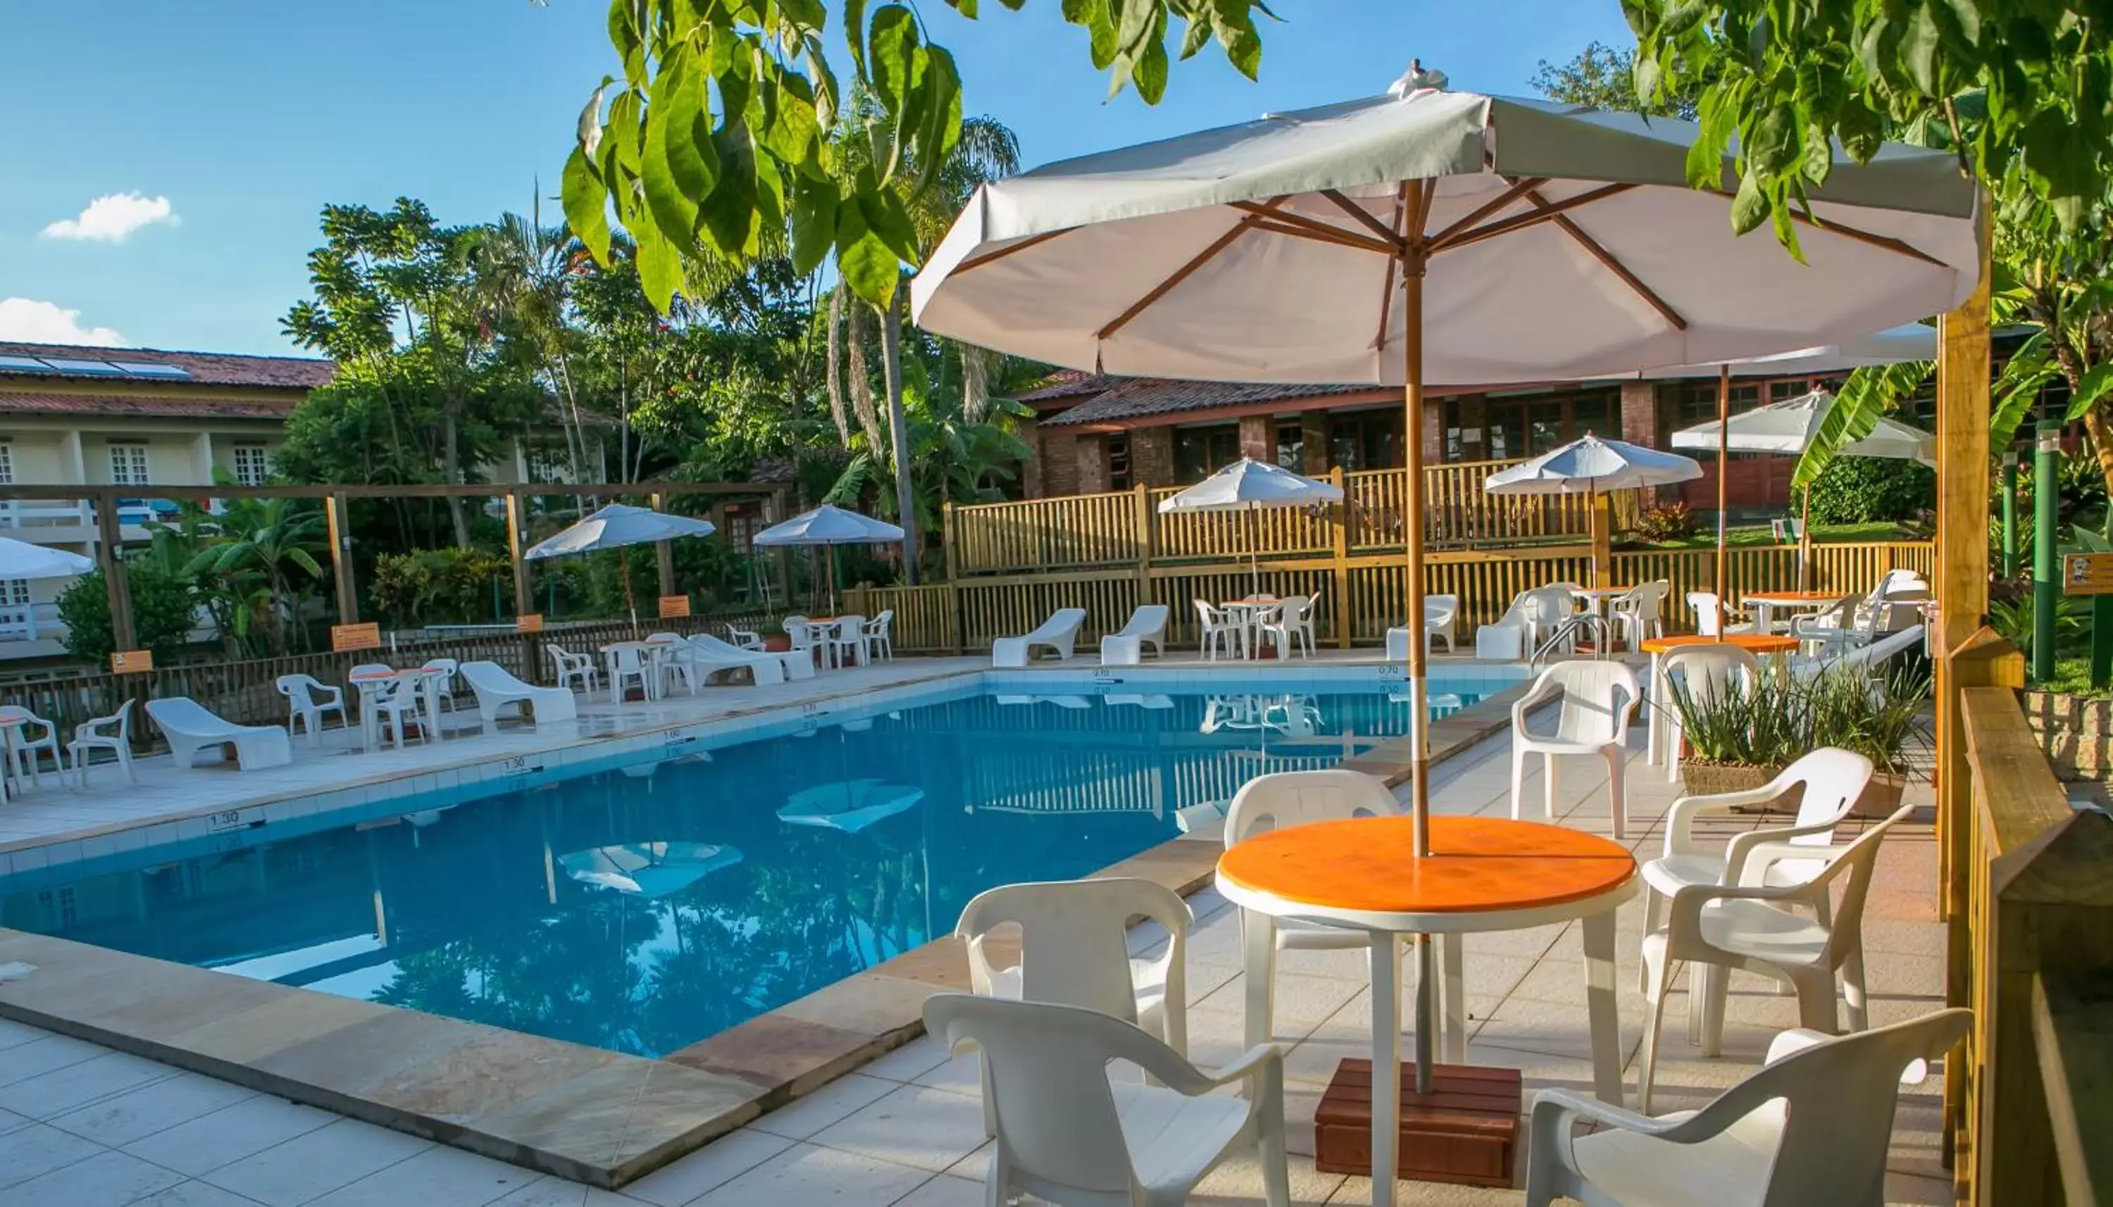
[[[983,1048],[997,1141],[1027,1177],[1128,1201],[1135,1171],[1107,1063],[1185,1065],[1156,1036],[1122,1019],[968,994],[925,1000],[925,1029],[949,1046]]]

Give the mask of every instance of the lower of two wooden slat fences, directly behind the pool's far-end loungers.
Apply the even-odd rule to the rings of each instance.
[[[1008,507],[1014,503],[1006,503]],[[1342,528],[1338,528],[1342,533]],[[1403,624],[1407,569],[1399,554],[1352,554],[1346,539],[1331,541],[1319,556],[1270,556],[1251,571],[1240,556],[1213,560],[1137,560],[1120,569],[1054,569],[1033,575],[953,575],[923,588],[858,588],[845,592],[843,611],[879,615],[894,609],[896,649],[970,651],[989,649],[997,636],[1021,634],[1061,607],[1086,609],[1082,640],[1092,645],[1103,632],[1122,628],[1130,611],[1145,602],[1173,609],[1168,643],[1196,643],[1192,600],[1228,600],[1253,590],[1278,596],[1319,596],[1314,613],[1321,640],[1338,645],[1378,643]],[[1424,590],[1460,596],[1460,640],[1471,643],[1481,624],[1502,615],[1519,592],[1553,581],[1587,583],[1593,564],[1600,581],[1638,583],[1667,579],[1673,586],[1671,628],[1690,628],[1688,590],[1705,590],[1716,573],[1714,550],[1659,550],[1610,554],[1585,543],[1530,545],[1513,550],[1439,550],[1428,556]],[[1864,592],[1889,569],[1931,573],[1927,541],[1821,543],[1813,545],[1813,590]],[[1733,550],[1731,594],[1790,590],[1798,586],[1798,550]]]

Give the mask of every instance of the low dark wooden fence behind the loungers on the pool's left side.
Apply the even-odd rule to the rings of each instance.
[[[647,632],[718,632],[721,624],[752,628],[761,621],[754,611],[714,613],[685,619],[640,619]],[[387,662],[391,666],[412,666],[431,657],[452,657],[456,662],[497,662],[528,683],[554,683],[543,645],[562,645],[575,653],[594,651],[602,643],[632,636],[630,621],[592,621],[551,626],[539,634],[480,632],[463,636],[442,636],[429,640],[399,643],[391,649],[361,649],[353,653],[294,653],[285,657],[249,657],[239,662],[192,662],[154,668],[146,674],[61,674],[51,679],[25,679],[0,687],[8,704],[19,704],[42,719],[49,719],[59,734],[72,734],[74,725],[91,717],[106,717],[123,700],[156,700],[167,695],[188,695],[235,721],[237,725],[283,725],[287,702],[279,695],[281,674],[308,674],[328,685],[344,685],[347,674],[361,662]],[[351,693],[347,693],[351,695]],[[351,700],[347,700],[351,706]],[[146,748],[158,740],[154,723],[135,704],[133,710],[135,746]]]

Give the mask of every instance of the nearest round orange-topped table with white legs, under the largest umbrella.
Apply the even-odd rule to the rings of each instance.
[[[1371,1201],[1395,1201],[1401,1118],[1401,934],[1526,930],[1583,920],[1585,1008],[1593,1093],[1621,1103],[1614,1010],[1614,909],[1638,894],[1627,848],[1564,827],[1509,818],[1431,818],[1431,854],[1416,856],[1405,816],[1310,822],[1238,841],[1217,860],[1217,890],[1242,913],[1247,1044],[1270,1040],[1276,920],[1321,922],[1371,936]],[[1464,1057],[1458,941],[1447,943],[1450,1048]],[[1437,994],[1420,994],[1416,1055],[1435,1059]],[[1454,1057],[1454,1059],[1460,1059]]]

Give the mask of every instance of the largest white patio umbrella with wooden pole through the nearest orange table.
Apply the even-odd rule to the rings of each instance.
[[[1843,156],[1809,197],[1800,262],[1735,237],[1726,197],[1688,186],[1693,123],[1441,89],[1411,68],[1382,97],[987,184],[913,281],[915,319],[1109,374],[1403,385],[1414,617],[1424,383],[1783,353],[1946,311],[1978,281],[1978,192],[1950,152]],[[1420,640],[1409,693],[1428,708]],[[1428,738],[1411,761],[1422,854]],[[1428,1019],[1428,943],[1418,960]],[[1416,1044],[1424,1080],[1428,1027]]]

